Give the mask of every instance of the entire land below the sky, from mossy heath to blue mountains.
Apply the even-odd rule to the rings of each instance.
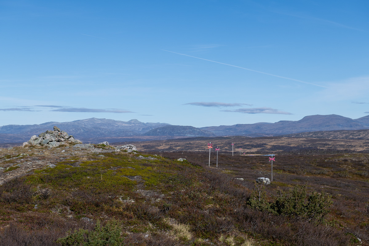
[[[0,146],[0,245],[369,246],[368,116],[92,118],[3,126]]]

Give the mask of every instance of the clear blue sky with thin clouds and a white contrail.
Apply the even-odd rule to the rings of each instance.
[[[0,1],[0,125],[369,114],[369,2]]]

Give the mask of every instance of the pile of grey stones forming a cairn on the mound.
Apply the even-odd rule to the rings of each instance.
[[[82,143],[78,139],[74,139],[72,135],[68,135],[65,131],[60,131],[58,127],[54,126],[54,131],[47,130],[39,134],[33,135],[28,142],[23,143],[23,147],[30,144],[32,146],[51,146],[56,147],[62,143]]]

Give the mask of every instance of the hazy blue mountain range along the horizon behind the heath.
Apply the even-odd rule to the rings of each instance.
[[[197,136],[258,137],[316,131],[361,130],[369,129],[369,115],[358,119],[351,119],[335,114],[310,115],[299,121],[260,122],[255,124],[221,125],[218,127],[202,128],[166,123],[144,123],[137,119],[115,121],[113,119],[90,118],[72,122],[46,122],[40,125],[5,125],[0,127],[0,143],[28,141],[32,135],[38,135],[46,130],[51,130],[54,125],[83,142],[98,143],[102,141],[149,141]],[[345,135],[347,134],[346,132]],[[323,135],[318,134],[315,136]],[[337,136],[337,133],[335,135]],[[290,136],[292,137],[293,135]],[[300,134],[300,136],[303,135]],[[304,137],[307,137],[306,134]],[[313,135],[310,134],[310,137],[313,137]]]

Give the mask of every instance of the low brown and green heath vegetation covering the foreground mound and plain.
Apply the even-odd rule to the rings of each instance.
[[[3,175],[39,150],[1,150]],[[218,169],[206,151],[39,158],[62,150],[0,186],[0,245],[369,245],[366,153],[283,152],[265,186],[265,156],[219,152]]]

